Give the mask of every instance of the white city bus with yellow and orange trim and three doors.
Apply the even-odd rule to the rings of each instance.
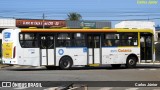
[[[113,68],[155,61],[150,29],[5,29],[2,31],[3,64]]]

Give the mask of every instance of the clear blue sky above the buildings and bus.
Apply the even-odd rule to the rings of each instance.
[[[147,3],[138,4],[138,1]],[[149,2],[156,1],[155,4]],[[82,20],[151,20],[160,25],[160,0],[0,0],[0,18],[66,20],[77,12]]]

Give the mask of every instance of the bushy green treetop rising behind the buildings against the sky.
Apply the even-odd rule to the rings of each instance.
[[[67,16],[71,21],[79,21],[82,19],[82,16],[76,12],[69,13]]]

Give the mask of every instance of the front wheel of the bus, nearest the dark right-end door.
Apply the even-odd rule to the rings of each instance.
[[[127,68],[134,68],[137,64],[137,58],[136,57],[128,57],[127,62],[126,62],[126,67]]]

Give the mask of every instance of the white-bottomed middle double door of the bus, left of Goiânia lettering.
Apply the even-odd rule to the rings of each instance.
[[[100,35],[89,34],[88,42],[88,64],[100,64]]]

